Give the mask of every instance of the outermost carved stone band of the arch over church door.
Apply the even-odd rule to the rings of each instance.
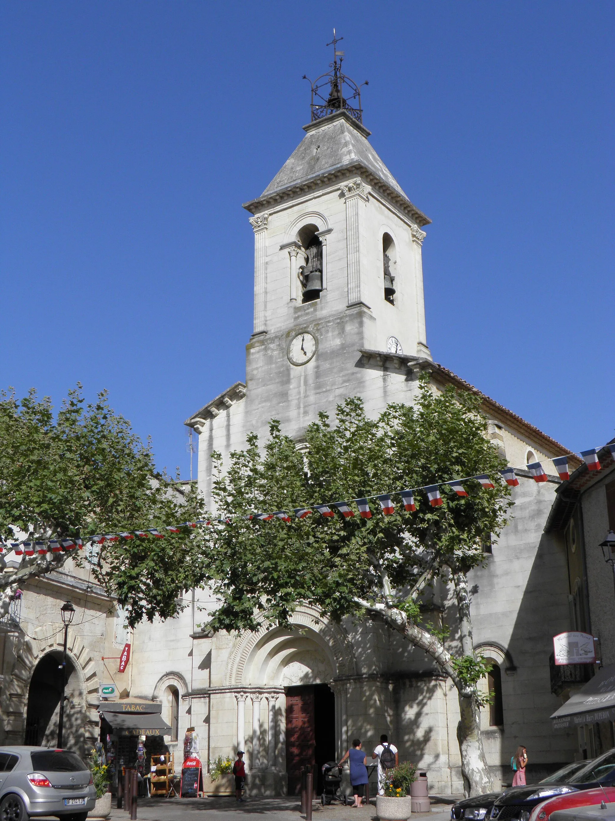
[[[283,688],[276,686],[260,685],[252,688],[250,686],[246,687],[243,684],[244,668],[250,654],[258,642],[266,636],[267,633],[271,632],[271,628],[263,623],[264,617],[260,617],[259,621],[262,622],[262,626],[258,631],[240,634],[235,640],[226,663],[225,684],[228,687],[234,687],[242,691],[253,689],[256,692],[266,690],[270,692],[283,692]],[[353,674],[355,669],[353,646],[339,625],[336,625],[335,622],[323,616],[317,608],[313,608],[309,605],[303,605],[293,613],[291,624],[310,628],[326,641],[335,659],[335,667],[337,669],[334,671],[334,677]]]

